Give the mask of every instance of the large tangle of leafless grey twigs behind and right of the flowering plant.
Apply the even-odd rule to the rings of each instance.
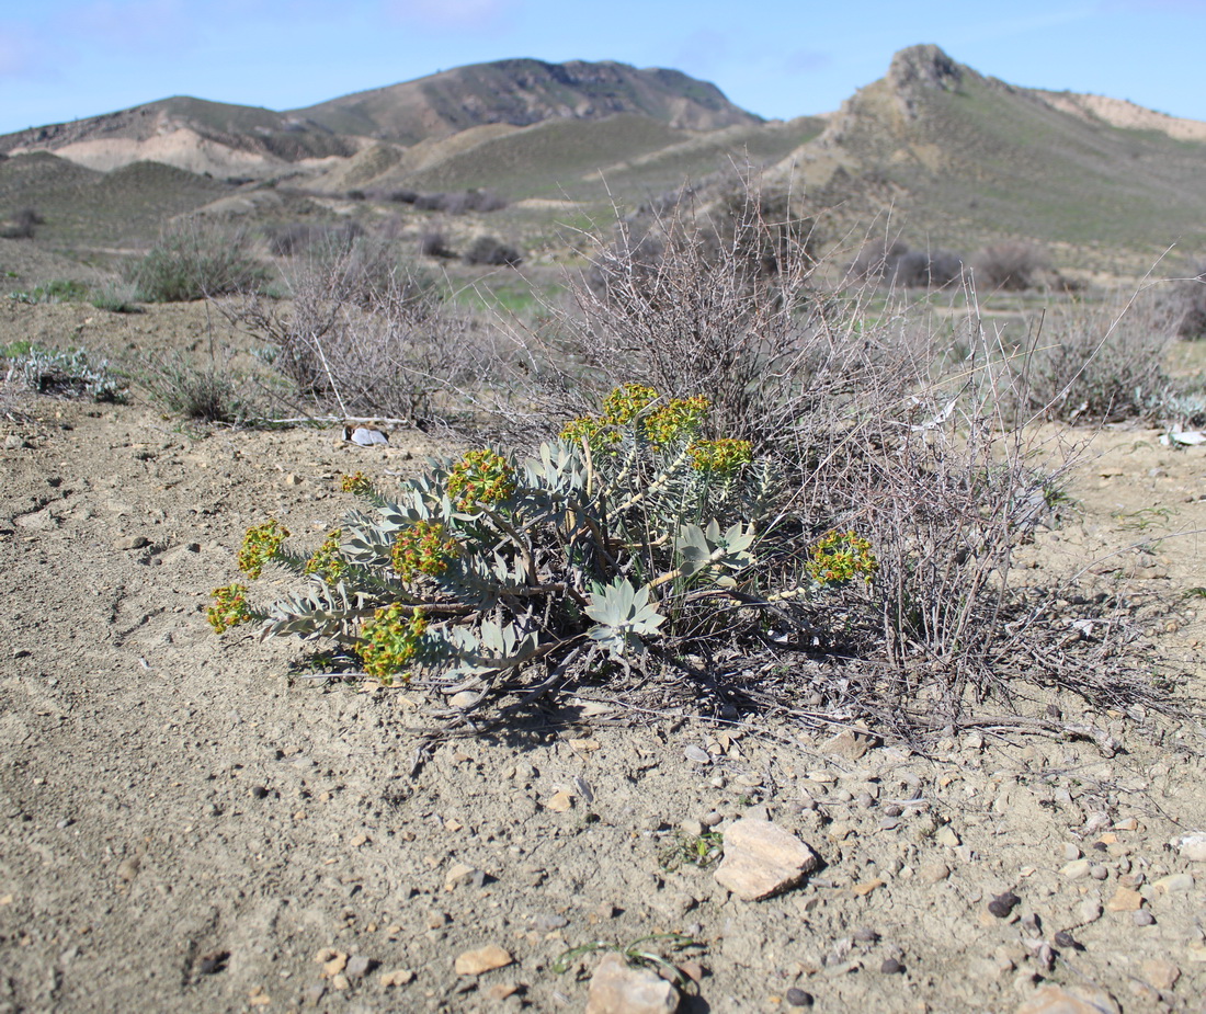
[[[1049,517],[1070,458],[1015,424],[1012,408],[1041,395],[974,304],[954,335],[959,362],[944,363],[946,317],[818,292],[814,262],[780,242],[763,206],[751,194],[718,224],[722,209],[679,204],[595,239],[595,272],[573,305],[549,307],[517,336],[509,371],[496,370],[513,421],[564,422],[627,381],[702,393],[709,435],[750,439],[773,462],[774,524],[797,534],[798,551],[760,564],[790,578],[825,533],[865,537],[879,564],[870,585],[784,600],[781,623],[763,631],[825,660],[829,675],[807,687],[824,714],[941,728],[987,698],[1011,701],[1018,681],[1111,705],[1158,702],[1128,649],[1134,625],[1089,606],[1070,616],[1058,581],[1019,586],[1014,552]],[[749,256],[768,248],[772,274]],[[1097,632],[1075,651],[1073,620]]]

